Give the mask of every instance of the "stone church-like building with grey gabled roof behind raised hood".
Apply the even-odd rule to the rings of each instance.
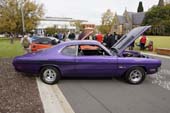
[[[112,32],[117,34],[126,34],[132,28],[140,26],[144,20],[145,12],[124,11],[123,15],[115,14]]]

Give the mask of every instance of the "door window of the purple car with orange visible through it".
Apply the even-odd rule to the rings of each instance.
[[[79,45],[79,56],[108,56],[109,54],[101,47],[96,45]]]

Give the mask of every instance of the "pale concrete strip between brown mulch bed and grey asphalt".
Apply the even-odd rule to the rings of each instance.
[[[36,79],[44,113],[74,113],[58,85],[47,85]]]

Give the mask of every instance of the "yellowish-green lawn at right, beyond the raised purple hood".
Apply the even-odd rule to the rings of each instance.
[[[155,48],[168,48],[170,49],[170,36],[147,36],[147,42],[153,41],[153,47]],[[139,38],[135,41],[139,42]],[[135,47],[135,50],[139,50],[139,47]]]

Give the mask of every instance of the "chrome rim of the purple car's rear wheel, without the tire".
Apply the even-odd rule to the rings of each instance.
[[[57,78],[57,73],[53,69],[46,69],[43,72],[43,79],[47,83],[53,83]]]

